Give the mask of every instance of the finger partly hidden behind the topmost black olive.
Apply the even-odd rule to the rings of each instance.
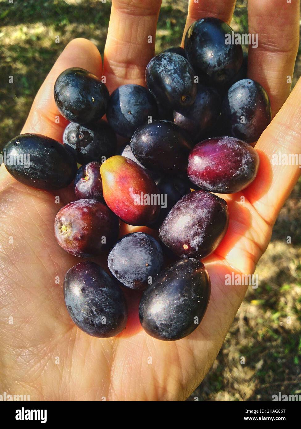
[[[234,12],[236,0],[189,0],[188,15],[186,19],[182,46],[184,46],[185,34],[191,24],[197,19],[205,17],[219,18],[230,24]]]

